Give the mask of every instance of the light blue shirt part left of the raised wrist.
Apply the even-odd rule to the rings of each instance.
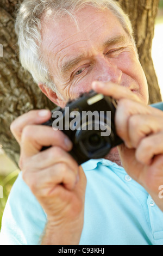
[[[45,212],[20,173],[4,209],[0,245],[39,245],[46,221]]]

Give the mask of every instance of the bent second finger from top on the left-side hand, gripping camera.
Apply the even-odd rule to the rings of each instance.
[[[54,131],[52,127],[28,125],[22,131],[21,154],[29,157],[40,152],[43,146],[57,146],[64,150],[72,149],[72,142],[62,131]]]

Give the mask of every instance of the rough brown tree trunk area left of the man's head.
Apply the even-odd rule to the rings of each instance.
[[[3,45],[3,57],[0,57],[0,144],[15,163],[18,162],[20,147],[11,135],[11,122],[32,109],[54,108],[18,62],[14,29],[15,5],[18,2],[22,1],[0,2],[0,43]]]

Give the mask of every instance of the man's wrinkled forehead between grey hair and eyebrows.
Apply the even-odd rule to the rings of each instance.
[[[71,46],[73,42],[86,43],[90,38],[96,37],[96,30],[101,36],[106,31],[108,36],[124,32],[121,23],[108,9],[101,10],[88,6],[76,13],[76,20],[70,15],[56,19],[52,14],[46,14],[42,18],[41,26],[42,50],[52,53],[66,45]]]

